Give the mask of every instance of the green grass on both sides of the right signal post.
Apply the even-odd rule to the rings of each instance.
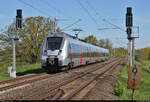
[[[140,90],[134,93],[135,100],[150,100],[150,61],[143,61],[138,66],[142,67],[142,77]],[[115,85],[115,93],[121,100],[131,100],[132,90],[127,89],[128,67],[127,65],[120,71],[118,82]]]

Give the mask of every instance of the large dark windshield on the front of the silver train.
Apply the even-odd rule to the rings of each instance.
[[[62,37],[48,37],[47,38],[47,49],[57,50],[60,49],[62,43]]]

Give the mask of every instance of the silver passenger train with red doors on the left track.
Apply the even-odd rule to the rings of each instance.
[[[108,57],[108,49],[92,45],[63,32],[46,36],[42,43],[42,68],[49,72],[104,61]]]

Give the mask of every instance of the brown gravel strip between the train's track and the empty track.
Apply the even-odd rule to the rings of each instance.
[[[81,71],[85,71],[90,69],[91,67],[100,65],[102,63],[96,63],[96,64],[92,64],[87,66],[82,66],[83,68],[77,68],[77,70],[74,70],[73,72],[81,72]],[[87,68],[85,68],[87,67]],[[4,92],[0,92],[0,99],[4,99],[4,100],[17,100],[17,99],[22,99],[24,96],[30,95],[33,92],[38,91],[39,89],[42,88],[47,88],[53,85],[56,85],[56,83],[61,82],[62,80],[67,80],[68,78],[77,75],[79,73],[64,73],[64,74],[60,74],[60,75],[56,75],[54,77],[48,78],[48,79],[44,79],[38,82],[34,82],[31,84],[26,84],[24,86],[20,86],[17,88],[13,88],[13,89],[9,89],[7,91]],[[55,75],[55,74],[54,74]]]

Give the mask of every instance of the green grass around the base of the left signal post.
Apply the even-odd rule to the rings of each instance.
[[[6,59],[6,60],[5,60]],[[0,81],[12,79],[8,74],[8,67],[12,66],[12,60],[10,57],[0,56]],[[22,64],[16,63],[16,75],[22,76],[32,73],[41,73],[44,69],[41,68],[41,64]]]

